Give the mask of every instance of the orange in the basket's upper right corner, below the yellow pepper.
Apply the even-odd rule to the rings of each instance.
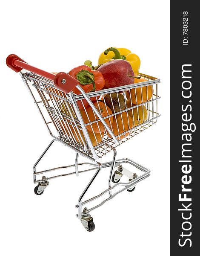
[[[148,80],[144,78],[140,78],[140,79],[135,78],[134,84],[144,82],[144,81],[148,81]],[[141,93],[141,89],[142,89],[142,93]],[[130,95],[130,92],[131,92],[131,95]],[[133,88],[131,90],[126,91],[127,99],[129,99],[129,101],[132,101],[132,104],[135,104],[135,105],[151,100],[152,94],[153,94],[152,85],[138,87],[135,89]]]

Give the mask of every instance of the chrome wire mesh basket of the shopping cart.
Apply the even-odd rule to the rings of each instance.
[[[71,97],[69,93],[63,93],[55,88],[51,80],[37,74],[26,73],[23,79],[34,95],[41,113],[48,113],[47,116],[43,113],[43,116],[46,116],[45,123],[51,136],[71,146],[80,154],[97,159],[157,122],[160,116],[157,106],[157,100],[160,99],[157,86],[160,80],[144,74],[139,76],[148,81],[86,95],[71,93]],[[96,103],[97,111],[119,143],[111,137],[91,106],[85,107],[85,97]],[[106,105],[108,101],[110,107]],[[83,130],[83,126],[86,131]],[[94,149],[88,143],[85,132],[88,132]]]

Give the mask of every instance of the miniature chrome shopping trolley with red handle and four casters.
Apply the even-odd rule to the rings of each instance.
[[[157,122],[157,118],[160,116],[157,110],[158,99],[160,99],[160,96],[157,94],[157,87],[160,79],[139,73],[138,79],[145,78],[146,81],[85,93],[78,84],[78,81],[67,73],[60,72],[54,74],[45,72],[27,64],[14,54],[7,57],[6,64],[15,72],[20,73],[40,111],[49,134],[53,137],[53,140],[33,167],[34,183],[37,184],[34,189],[35,194],[42,195],[44,189],[49,185],[49,180],[55,177],[71,174],[78,176],[82,172],[96,171],[80,195],[78,204],[76,205],[78,209],[77,217],[81,220],[87,231],[93,231],[95,226],[93,218],[90,215],[93,209],[100,207],[120,192],[125,190],[132,192],[137,183],[150,175],[149,169],[131,159],[122,158],[117,160],[116,147]],[[72,92],[75,86],[80,91],[78,95]],[[116,96],[115,102],[112,98],[114,93],[117,96],[118,106],[120,108],[117,111],[114,108],[114,105],[116,105]],[[131,93],[134,95],[133,97]],[[123,108],[121,107],[119,94],[123,95]],[[106,106],[106,97],[110,97],[110,104],[113,108],[112,113],[110,113],[106,107],[107,115],[103,116],[98,102],[104,102]],[[128,105],[128,98],[129,102],[131,102],[130,105]],[[97,102],[95,106],[94,102]],[[82,110],[79,107],[80,103],[83,106]],[[87,115],[86,105],[91,108],[95,119],[93,118],[91,120],[91,115]],[[88,122],[85,122],[83,119],[83,111],[87,115]],[[130,121],[131,119],[128,116],[132,116],[132,121]],[[112,122],[115,122],[115,128],[111,124]],[[102,130],[99,130],[99,132],[95,130],[94,132],[94,125],[99,129],[103,125],[103,132]],[[62,143],[76,152],[74,165],[37,171],[37,164],[55,141]],[[110,151],[113,152],[112,160],[110,162],[100,163],[99,159]],[[86,157],[89,162],[78,163],[79,155]],[[85,165],[91,167],[80,170]],[[54,173],[54,171],[73,167],[74,172],[49,176],[50,172]],[[108,184],[106,188],[104,187],[105,190],[83,201],[83,197],[102,168],[110,169]],[[86,207],[86,205],[93,201],[99,201],[102,196],[104,198],[106,196],[106,199],[91,208]],[[83,206],[85,207],[83,208]]]

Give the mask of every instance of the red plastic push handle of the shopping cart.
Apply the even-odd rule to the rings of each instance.
[[[15,54],[11,54],[6,58],[6,64],[15,72],[19,72],[22,69],[26,69],[40,76],[46,77],[47,79],[54,81],[54,84],[57,87],[57,89],[63,91],[64,93],[71,92],[71,90],[73,90],[74,87],[76,87],[79,83],[78,80],[76,80],[75,78],[73,78],[65,72],[59,72],[57,73],[57,75],[55,75],[44,70],[40,70],[37,67],[33,67]]]

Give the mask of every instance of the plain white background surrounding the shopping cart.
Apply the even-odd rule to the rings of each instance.
[[[169,255],[169,1],[4,1],[0,47],[0,254]],[[20,76],[5,60],[14,53],[46,71],[69,71],[108,47],[140,56],[140,72],[161,79],[156,125],[117,148],[151,169],[133,193],[123,192],[91,212],[86,232],[74,205],[93,173],[50,182],[34,194],[32,166],[51,138]],[[55,145],[41,168],[74,163]],[[101,161],[111,160],[108,154]],[[108,170],[95,188],[106,189]]]

